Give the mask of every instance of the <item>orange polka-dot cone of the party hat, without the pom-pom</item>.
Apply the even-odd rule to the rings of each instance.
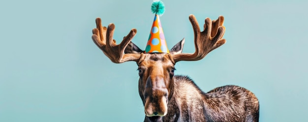
[[[169,53],[158,15],[154,17],[145,51],[146,53]]]

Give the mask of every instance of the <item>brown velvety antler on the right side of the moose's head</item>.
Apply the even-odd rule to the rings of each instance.
[[[205,19],[204,30],[200,32],[199,24],[194,15],[189,16],[194,31],[195,52],[173,54],[174,62],[178,61],[197,61],[204,58],[210,51],[218,48],[226,43],[225,39],[221,39],[225,27],[223,26],[223,16],[219,16],[217,20],[211,21],[210,18]],[[213,24],[213,26],[212,26]]]

